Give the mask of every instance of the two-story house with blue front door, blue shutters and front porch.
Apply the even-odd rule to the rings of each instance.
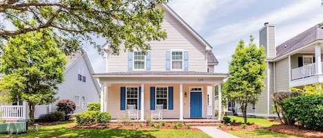
[[[220,86],[227,74],[215,73],[218,60],[211,45],[171,8],[162,8],[165,41],[147,42],[151,50],[146,54],[124,51],[121,45],[120,54],[114,56],[107,49],[106,73],[94,74],[103,86],[101,111],[116,119],[126,116],[131,104],[144,120],[162,104],[164,119],[214,119],[215,86]]]

